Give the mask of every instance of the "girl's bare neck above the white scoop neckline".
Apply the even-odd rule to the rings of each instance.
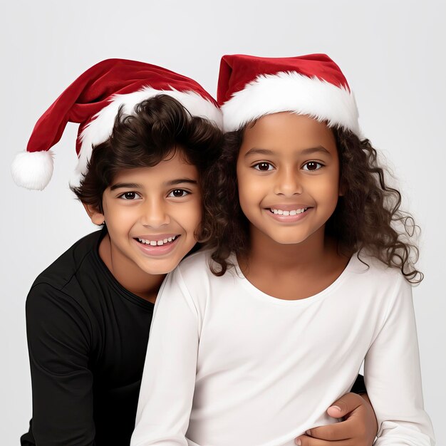
[[[305,299],[326,289],[348,264],[338,254],[336,241],[324,237],[324,228],[301,243],[274,242],[256,228],[250,231],[247,256],[240,257],[244,276],[266,294],[278,299]]]

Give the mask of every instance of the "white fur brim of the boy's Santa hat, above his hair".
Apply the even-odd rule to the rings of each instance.
[[[78,173],[85,173],[87,170],[87,162],[90,159],[92,146],[98,145],[110,138],[120,106],[123,106],[124,115],[133,115],[133,113],[135,113],[135,105],[138,105],[143,100],[160,94],[172,96],[172,98],[178,100],[192,116],[206,118],[214,122],[218,128],[222,128],[222,112],[217,105],[194,91],[178,91],[175,89],[155,90],[154,88],[145,87],[134,93],[114,95],[110,104],[100,110],[100,112],[93,117],[93,120],[85,130],[83,130],[81,134],[81,152],[79,153],[79,162],[76,171]]]

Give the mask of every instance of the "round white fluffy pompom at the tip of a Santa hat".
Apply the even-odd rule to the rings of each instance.
[[[53,152],[19,152],[12,163],[11,174],[16,185],[43,190],[53,175]]]

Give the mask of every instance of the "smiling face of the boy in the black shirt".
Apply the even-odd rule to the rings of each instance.
[[[166,274],[196,243],[202,219],[197,168],[177,150],[154,167],[122,170],[103,193],[103,214],[92,219],[105,220],[115,266]]]

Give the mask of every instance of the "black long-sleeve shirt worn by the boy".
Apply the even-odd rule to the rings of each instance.
[[[22,445],[129,445],[153,304],[124,289],[84,237],[26,300],[33,419]]]

